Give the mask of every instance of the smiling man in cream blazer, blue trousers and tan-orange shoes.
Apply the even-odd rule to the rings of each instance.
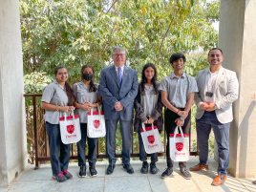
[[[210,67],[199,72],[196,77],[199,93],[195,96],[197,104],[197,139],[200,163],[190,171],[207,170],[208,139],[211,128],[218,144],[218,175],[212,185],[218,186],[226,181],[229,163],[229,128],[233,120],[232,103],[238,98],[239,83],[235,72],[222,67],[223,51],[213,48],[208,53]]]

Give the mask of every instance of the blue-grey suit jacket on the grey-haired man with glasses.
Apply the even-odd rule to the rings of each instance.
[[[123,68],[122,83],[119,86],[115,66],[112,65],[101,71],[98,93],[103,98],[105,119],[132,120],[134,99],[138,94],[137,72],[127,66]],[[115,103],[120,101],[123,110],[117,112]]]

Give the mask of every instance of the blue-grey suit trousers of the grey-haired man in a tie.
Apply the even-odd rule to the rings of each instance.
[[[106,119],[106,148],[109,164],[115,164],[116,159],[116,133],[117,120]],[[129,164],[131,157],[131,127],[132,120],[120,120],[120,131],[122,138],[122,163]]]

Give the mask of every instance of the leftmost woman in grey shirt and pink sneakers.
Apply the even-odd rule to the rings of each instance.
[[[41,107],[45,110],[46,131],[49,137],[53,179],[59,182],[71,179],[68,171],[70,144],[63,144],[60,138],[59,114],[74,110],[75,96],[68,80],[66,67],[54,69],[55,80],[43,90]]]

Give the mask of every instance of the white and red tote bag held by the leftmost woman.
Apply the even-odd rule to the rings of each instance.
[[[63,113],[64,116],[59,117],[60,136],[64,144],[78,142],[81,139],[80,122],[78,115],[74,115],[74,110],[70,116]]]

